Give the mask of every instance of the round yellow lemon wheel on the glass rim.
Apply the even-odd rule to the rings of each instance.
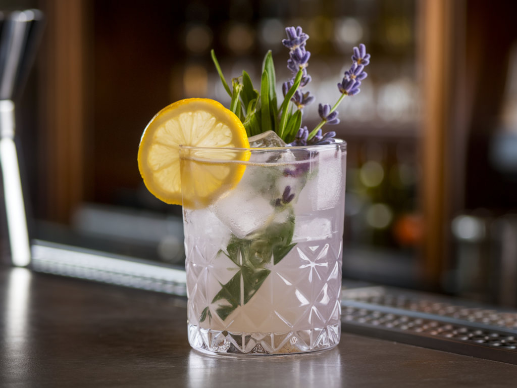
[[[187,146],[182,162],[180,145]],[[249,151],[224,150],[226,147],[249,147],[239,118],[214,100],[180,100],[163,108],[147,124],[140,141],[138,166],[147,189],[163,202],[177,205],[182,204],[183,169],[183,205],[205,207],[235,187],[246,169],[239,161],[250,158]]]

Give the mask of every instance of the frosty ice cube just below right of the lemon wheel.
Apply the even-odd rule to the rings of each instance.
[[[275,208],[255,187],[240,184],[214,203],[211,210],[238,238],[262,227],[275,215]]]

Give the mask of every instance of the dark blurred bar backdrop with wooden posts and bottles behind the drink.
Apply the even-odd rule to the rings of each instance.
[[[348,143],[343,276],[517,307],[517,3],[0,0],[27,8],[47,19],[17,101],[32,238],[181,265],[181,208],[144,187],[142,131],[182,98],[229,106],[212,48],[226,79],[255,84],[272,50],[280,93],[284,27],[300,25],[318,102],[354,46],[372,54],[327,128]]]

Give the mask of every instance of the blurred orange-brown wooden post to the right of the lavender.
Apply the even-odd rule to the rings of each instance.
[[[447,257],[449,189],[447,156],[451,81],[452,3],[420,3],[422,80],[422,167],[420,187],[425,222],[422,275],[429,287],[438,288]]]

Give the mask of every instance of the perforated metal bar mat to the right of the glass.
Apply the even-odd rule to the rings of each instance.
[[[390,287],[344,289],[341,305],[343,331],[517,365],[517,311]]]

